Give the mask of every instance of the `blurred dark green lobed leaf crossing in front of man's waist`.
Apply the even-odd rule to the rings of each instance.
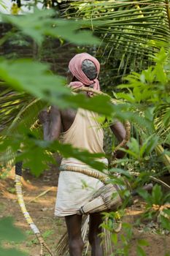
[[[36,176],[39,176],[43,170],[47,169],[49,163],[55,164],[53,155],[50,152],[58,152],[62,157],[66,158],[76,158],[97,170],[103,170],[105,167],[103,163],[97,162],[98,158],[104,157],[104,154],[90,154],[88,151],[73,148],[69,144],[61,144],[58,140],[39,140],[36,137],[36,132],[31,132],[29,128],[26,129],[22,123],[18,126],[18,133],[15,134],[15,139],[12,139],[13,135],[11,136],[4,138],[0,142],[0,151],[4,152],[5,156],[7,148],[10,148],[9,157],[13,159],[18,148],[22,145],[22,152],[17,155],[15,161],[23,161],[25,167],[31,168],[31,172]]]

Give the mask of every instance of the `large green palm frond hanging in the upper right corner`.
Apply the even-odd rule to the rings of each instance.
[[[110,76],[123,76],[129,69],[139,71],[150,64],[149,56],[159,46],[149,42],[170,39],[168,4],[166,0],[73,1],[66,6],[65,15],[83,18],[84,26],[102,39],[97,56],[101,56],[110,81]]]

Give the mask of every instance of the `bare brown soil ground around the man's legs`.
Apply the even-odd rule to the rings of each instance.
[[[56,171],[45,171],[39,178],[34,178],[34,176],[31,176],[28,172],[24,173],[23,196],[26,207],[31,217],[34,219],[35,224],[39,227],[39,230],[41,230],[45,241],[53,251],[55,251],[58,240],[66,231],[64,220],[54,217],[57,182],[58,173]],[[22,242],[22,244],[10,243],[9,246],[15,246],[15,248],[17,246],[17,249],[27,252],[29,256],[39,256],[39,244],[23,218],[23,214],[17,203],[15,190],[13,189],[13,171],[10,172],[10,175],[6,179],[1,179],[0,183],[0,217],[14,217],[15,225],[26,233],[26,241]],[[44,194],[41,195],[41,193]],[[125,217],[126,221],[130,223],[135,222],[142,210],[143,203],[136,200],[136,204],[128,208],[127,216]],[[139,227],[134,228],[129,256],[143,256],[142,254],[136,254],[138,239],[148,241],[149,245],[143,247],[146,255],[170,256],[170,235],[163,232],[158,233],[158,225],[156,222],[145,222]],[[119,243],[121,242],[119,241]],[[47,255],[48,254],[45,256]],[[114,256],[121,255],[120,251],[117,250]]]

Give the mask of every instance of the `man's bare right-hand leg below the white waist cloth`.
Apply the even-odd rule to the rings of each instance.
[[[101,238],[98,236],[101,233],[101,227],[99,227],[101,223],[101,214],[90,214],[88,241],[91,246],[91,256],[104,255],[104,250],[101,246]]]

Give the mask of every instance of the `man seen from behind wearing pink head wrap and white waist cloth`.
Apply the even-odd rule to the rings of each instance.
[[[69,62],[69,80],[71,80],[69,86],[73,89],[81,86],[90,86],[93,89],[100,90],[97,79],[99,69],[100,64],[96,58],[88,53],[77,54]],[[87,97],[93,97],[93,95],[89,93]],[[97,117],[96,113],[88,110],[59,110],[56,107],[51,108],[50,114],[46,111],[42,111],[39,114],[45,140],[57,140],[60,137],[63,143],[86,149],[90,153],[104,153],[104,134]],[[119,141],[125,138],[125,128],[120,121],[112,124],[111,129]],[[100,161],[107,165],[106,158],[102,158]],[[81,235],[82,216],[77,214],[77,210],[88,202],[91,195],[103,184],[96,178],[64,170],[66,165],[78,166],[80,169],[88,166],[77,159],[62,159],[62,170],[58,180],[58,195],[55,206],[55,215],[66,219],[70,255],[81,256],[83,249]],[[88,240],[92,256],[104,255],[101,238],[98,236],[101,233],[101,222],[100,213],[90,214]]]

